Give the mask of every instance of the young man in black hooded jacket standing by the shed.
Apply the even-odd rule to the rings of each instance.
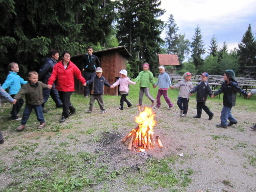
[[[83,76],[88,82],[91,78],[93,78],[95,74],[95,70],[97,67],[100,67],[100,60],[97,56],[92,54],[93,49],[91,46],[87,48],[87,54],[82,56],[82,58],[78,61],[81,64],[81,68],[83,71]],[[90,92],[92,90],[92,86],[88,85],[84,87],[84,96],[88,98]]]

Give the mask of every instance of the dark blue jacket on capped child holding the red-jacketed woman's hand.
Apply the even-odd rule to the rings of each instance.
[[[92,95],[103,95],[104,94],[104,85],[110,87],[111,85],[108,83],[108,81],[101,76],[100,78],[98,76],[94,76],[89,81],[86,82],[87,85],[92,84]]]

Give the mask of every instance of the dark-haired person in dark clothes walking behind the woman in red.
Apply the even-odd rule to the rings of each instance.
[[[39,80],[42,81],[44,84],[47,84],[48,79],[52,74],[52,69],[54,65],[57,63],[58,59],[59,59],[59,52],[58,50],[53,49],[53,50],[50,50],[49,57],[42,60],[44,64],[39,70]],[[57,108],[62,107],[60,96],[58,94],[58,91],[55,89],[55,85],[53,84],[52,89],[43,90],[43,98],[44,98],[44,102],[42,104],[43,112],[46,112],[46,110],[44,110],[44,104],[47,102],[49,96],[52,97],[52,100],[54,100]]]

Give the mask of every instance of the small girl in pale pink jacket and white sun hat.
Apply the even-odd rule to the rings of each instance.
[[[119,91],[121,94],[120,98],[120,106],[117,110],[124,110],[124,101],[127,103],[128,107],[131,107],[132,104],[126,99],[126,96],[128,96],[129,92],[129,84],[136,84],[136,82],[132,82],[130,78],[127,77],[127,71],[125,69],[122,69],[120,72],[120,78],[110,86],[110,88],[114,88],[115,86],[120,85]]]

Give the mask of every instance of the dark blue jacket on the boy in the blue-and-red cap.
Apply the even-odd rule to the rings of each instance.
[[[196,92],[196,102],[206,102],[207,94],[212,95],[212,90],[208,82],[199,82],[190,93]]]

